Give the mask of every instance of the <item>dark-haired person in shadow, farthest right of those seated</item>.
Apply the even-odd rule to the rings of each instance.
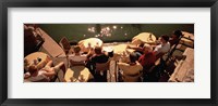
[[[174,30],[169,39],[170,45],[172,47],[173,44],[179,43],[181,36],[182,36],[181,30]]]

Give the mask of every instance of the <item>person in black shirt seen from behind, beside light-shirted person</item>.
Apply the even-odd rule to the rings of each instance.
[[[96,63],[107,63],[109,56],[102,53],[100,47],[95,47],[94,52],[95,54],[88,59],[86,67],[89,69],[90,74],[94,75],[96,81],[107,81],[107,71],[104,71],[102,76],[100,74],[96,74]]]

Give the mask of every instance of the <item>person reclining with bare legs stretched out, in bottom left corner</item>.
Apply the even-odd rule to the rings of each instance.
[[[24,74],[24,79],[31,82],[48,82],[58,74],[61,68],[65,71],[64,63],[61,62],[55,67],[51,67],[52,61],[48,62],[41,69],[37,69],[36,65],[31,65],[27,72]]]

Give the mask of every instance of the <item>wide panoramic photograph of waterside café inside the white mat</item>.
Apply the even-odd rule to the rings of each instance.
[[[24,82],[194,82],[194,24],[23,27]]]

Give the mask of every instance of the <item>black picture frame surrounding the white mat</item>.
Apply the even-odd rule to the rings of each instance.
[[[73,100],[24,100],[8,98],[8,8],[210,8],[210,98],[73,98]],[[217,56],[218,51],[218,0],[1,0],[0,1],[0,104],[2,106],[216,106],[217,105]],[[199,88],[201,89],[201,88]]]

